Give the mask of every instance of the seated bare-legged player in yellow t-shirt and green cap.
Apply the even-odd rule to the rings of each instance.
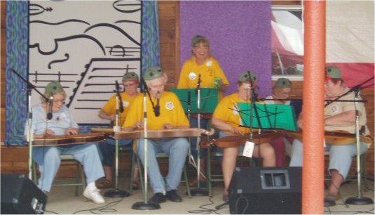
[[[238,78],[238,92],[224,97],[217,105],[212,117],[212,125],[220,130],[219,137],[250,133],[249,128],[240,127],[243,123],[237,105],[237,103],[251,102],[250,78],[255,85],[257,83],[257,75],[253,72],[243,72]],[[239,147],[236,146],[224,148],[222,171],[224,176],[223,200],[225,202],[229,200],[228,188],[233,176],[233,171],[236,168],[238,151]],[[263,159],[263,167],[275,167],[275,151],[269,143],[262,143],[261,150],[259,150],[259,147],[254,148],[253,156],[259,156],[259,154]]]

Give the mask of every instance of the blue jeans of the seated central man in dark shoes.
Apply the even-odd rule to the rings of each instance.
[[[147,173],[149,174],[151,188],[154,193],[177,190],[181,181],[182,170],[186,161],[189,142],[186,138],[163,138],[147,140]],[[156,154],[164,152],[169,158],[168,176],[164,178],[159,169]],[[139,139],[137,155],[144,164],[144,139]],[[166,182],[166,183],[165,183]]]

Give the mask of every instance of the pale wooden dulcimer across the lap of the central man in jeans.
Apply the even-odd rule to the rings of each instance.
[[[148,130],[147,138],[175,138],[175,137],[189,137],[201,136],[202,134],[212,135],[214,130],[207,131],[205,129],[191,128],[191,129],[165,129],[165,130]],[[114,133],[114,139],[139,139],[144,138],[143,130],[136,131],[120,131]]]

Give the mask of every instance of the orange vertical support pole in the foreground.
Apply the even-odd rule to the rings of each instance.
[[[325,1],[305,1],[302,214],[324,213]]]

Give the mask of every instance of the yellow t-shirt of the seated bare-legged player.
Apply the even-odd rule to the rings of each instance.
[[[220,100],[219,104],[214,110],[213,116],[223,120],[227,124],[236,126],[242,133],[250,133],[249,128],[240,127],[240,125],[243,125],[243,120],[240,117],[240,112],[236,111],[238,110],[237,103],[250,103],[250,100],[244,101],[240,99],[238,93],[233,93],[229,96],[226,96],[222,100]],[[230,131],[224,132],[229,133],[232,136],[235,135],[235,133],[232,133]]]

